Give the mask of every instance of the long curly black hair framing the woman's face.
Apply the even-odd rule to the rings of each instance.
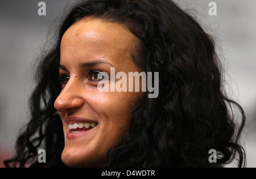
[[[226,95],[213,37],[170,0],[88,0],[71,8],[56,44],[42,56],[31,120],[6,167],[67,167],[61,161],[63,127],[53,106],[61,91],[60,42],[73,23],[89,16],[126,25],[139,39],[134,61],[145,72],[159,72],[159,97],[139,101],[105,167],[224,167],[233,160],[245,167],[238,143],[246,117]],[[35,161],[39,148],[47,151],[47,163]],[[209,163],[210,149],[217,151],[215,164]]]

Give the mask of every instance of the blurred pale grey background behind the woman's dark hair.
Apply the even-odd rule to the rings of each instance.
[[[44,0],[46,16],[35,0],[0,2],[0,167],[13,154],[15,140],[28,122],[32,67],[63,10],[76,2]],[[256,167],[256,1],[216,0],[217,15],[208,14],[206,0],[176,1],[216,38],[226,72],[229,95],[245,109],[242,145],[247,167]]]

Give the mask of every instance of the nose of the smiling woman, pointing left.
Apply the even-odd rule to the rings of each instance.
[[[54,103],[55,109],[61,113],[81,108],[82,105],[84,105],[84,100],[79,95],[79,90],[75,88],[75,85],[72,86],[71,83],[66,84]]]

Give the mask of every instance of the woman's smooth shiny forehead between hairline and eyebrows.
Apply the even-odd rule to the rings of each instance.
[[[123,24],[101,19],[81,19],[61,40],[61,56],[130,56],[137,37]]]

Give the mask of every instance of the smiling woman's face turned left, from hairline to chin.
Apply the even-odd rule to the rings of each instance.
[[[69,167],[101,167],[110,147],[129,128],[138,92],[99,92],[99,72],[140,72],[131,58],[138,39],[123,25],[82,19],[64,33],[60,69],[63,90],[55,108],[63,123],[63,162]],[[115,80],[115,79],[107,79]]]

